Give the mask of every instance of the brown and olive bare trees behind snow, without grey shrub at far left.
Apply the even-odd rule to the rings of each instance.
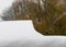
[[[32,20],[35,30],[44,35],[66,35],[64,0],[19,0],[12,10],[13,20]]]

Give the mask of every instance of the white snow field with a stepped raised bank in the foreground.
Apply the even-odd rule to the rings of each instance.
[[[43,36],[32,21],[0,22],[0,47],[66,47],[66,36]]]

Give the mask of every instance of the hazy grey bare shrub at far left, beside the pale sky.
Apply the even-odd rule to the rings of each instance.
[[[8,10],[3,10],[3,21],[13,21],[15,19],[14,11],[12,10],[12,7],[8,8]]]

